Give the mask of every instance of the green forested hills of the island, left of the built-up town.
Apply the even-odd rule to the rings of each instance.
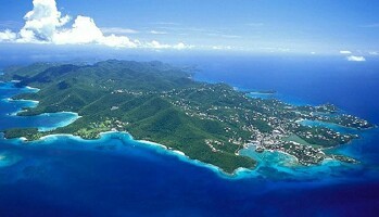
[[[38,100],[38,107],[20,115],[53,112],[77,112],[81,118],[49,133],[73,133],[86,139],[101,131],[126,130],[136,139],[146,139],[182,151],[191,158],[214,164],[231,173],[238,167],[251,168],[254,161],[235,154],[241,145],[228,142],[223,133],[227,125],[186,115],[175,105],[169,92],[195,89],[205,84],[191,74],[161,62],[110,60],[93,65],[38,63],[5,71],[3,79],[20,80],[18,86],[39,88],[37,93],[17,95]],[[229,89],[229,87],[226,87]],[[189,94],[190,95],[190,94]],[[36,129],[12,129],[8,137],[38,139]],[[214,151],[205,141],[225,141]]]

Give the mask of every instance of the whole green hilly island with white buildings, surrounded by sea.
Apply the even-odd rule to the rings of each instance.
[[[138,140],[164,144],[228,174],[256,166],[253,158],[239,155],[250,145],[255,145],[256,152],[285,152],[305,166],[326,158],[356,163],[324,150],[349,143],[357,135],[302,125],[304,119],[354,129],[375,127],[340,113],[332,104],[295,106],[276,99],[255,99],[225,84],[194,81],[190,73],[161,62],[38,63],[9,67],[0,78],[40,89],[13,98],[39,101],[38,106],[17,115],[70,111],[81,116],[51,131],[7,129],[8,139],[38,140],[56,133],[97,139],[101,132],[127,131]]]

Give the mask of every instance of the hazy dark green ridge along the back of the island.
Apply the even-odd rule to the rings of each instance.
[[[93,65],[37,63],[27,67],[10,67],[5,78],[21,80],[20,86],[46,88],[55,85],[64,89],[71,86],[85,86],[113,90],[169,90],[193,84],[190,74],[162,62],[134,62],[110,60]]]

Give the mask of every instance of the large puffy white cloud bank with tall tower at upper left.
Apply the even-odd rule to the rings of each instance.
[[[18,33],[0,31],[0,42],[52,43],[52,44],[101,44],[113,48],[177,49],[191,48],[178,44],[161,44],[153,40],[142,43],[127,36],[105,35],[91,17],[78,15],[75,20],[58,11],[55,0],[33,0],[33,10],[24,16],[25,25]],[[71,24],[71,25],[70,25]],[[119,29],[118,29],[119,30]],[[108,33],[109,33],[108,31]],[[124,31],[125,33],[125,31]]]

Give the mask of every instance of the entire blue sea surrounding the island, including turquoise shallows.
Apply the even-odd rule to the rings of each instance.
[[[379,124],[379,61],[339,58],[191,59],[198,80],[224,81],[241,90],[276,90],[294,104],[330,102]],[[2,65],[7,65],[2,63]],[[51,129],[72,113],[17,117],[36,102],[9,100],[34,91],[0,82],[0,129]],[[70,112],[70,111],[67,111]],[[85,141],[52,136],[36,142],[0,138],[0,216],[377,216],[379,130],[331,150],[358,165],[325,162],[300,167],[280,153],[241,154],[260,159],[253,171],[228,177],[216,168],[127,133]]]

